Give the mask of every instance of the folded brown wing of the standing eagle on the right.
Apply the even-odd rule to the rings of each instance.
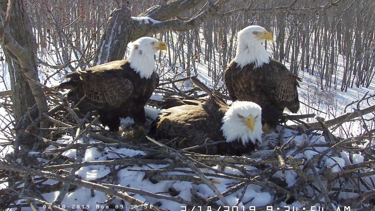
[[[261,86],[280,106],[288,108],[296,113],[299,109],[298,91],[300,80],[291,73],[284,64],[270,58],[269,68],[265,77],[261,79]]]

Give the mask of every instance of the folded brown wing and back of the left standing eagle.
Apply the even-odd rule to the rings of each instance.
[[[72,89],[68,99],[80,102],[79,108],[119,106],[133,93],[127,60],[111,61],[87,70],[69,73],[68,82],[57,88]]]

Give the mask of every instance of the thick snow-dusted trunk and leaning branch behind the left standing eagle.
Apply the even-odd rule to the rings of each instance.
[[[228,0],[217,1],[216,3],[208,1],[208,4],[205,4],[199,13],[187,21],[175,19],[176,16],[202,2],[203,0],[169,1],[142,12],[139,17],[144,17],[144,19],[132,18],[127,5],[120,3],[111,14],[98,51],[94,56],[94,64],[122,59],[126,52],[127,43],[139,37],[152,36],[169,30],[187,31],[193,29],[213,16],[220,10],[221,5]]]

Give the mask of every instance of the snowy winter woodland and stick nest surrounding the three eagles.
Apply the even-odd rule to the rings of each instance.
[[[0,0],[0,210],[374,210],[374,11],[373,0]],[[224,72],[250,25],[302,82],[299,111],[240,156],[194,152],[224,139],[154,138],[147,110],[115,133],[57,88],[153,37],[168,48],[145,108],[213,96],[230,108]]]

